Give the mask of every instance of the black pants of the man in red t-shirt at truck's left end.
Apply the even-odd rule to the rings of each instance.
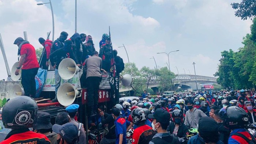
[[[37,75],[38,68],[22,69],[21,70],[21,84],[24,88],[26,96],[35,97],[35,75]]]

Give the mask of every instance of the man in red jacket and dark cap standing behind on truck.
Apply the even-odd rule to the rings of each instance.
[[[46,39],[45,41],[44,38],[39,38],[38,41],[42,46],[44,46],[44,52],[42,53],[41,61],[39,61],[40,68],[48,70],[52,41],[49,39]]]

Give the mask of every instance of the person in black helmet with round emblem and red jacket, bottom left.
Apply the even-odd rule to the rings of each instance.
[[[0,144],[50,144],[40,133],[29,130],[36,122],[37,103],[28,96],[10,99],[3,108],[2,120],[5,128],[12,129]]]

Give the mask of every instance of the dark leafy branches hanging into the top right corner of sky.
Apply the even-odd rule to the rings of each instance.
[[[241,17],[242,20],[252,19],[256,15],[255,0],[242,0],[241,3],[231,3],[231,5],[234,10],[237,10],[235,16]]]

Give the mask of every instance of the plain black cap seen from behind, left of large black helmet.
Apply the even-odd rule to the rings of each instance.
[[[199,132],[216,132],[218,131],[217,122],[210,117],[202,117],[198,121]]]

